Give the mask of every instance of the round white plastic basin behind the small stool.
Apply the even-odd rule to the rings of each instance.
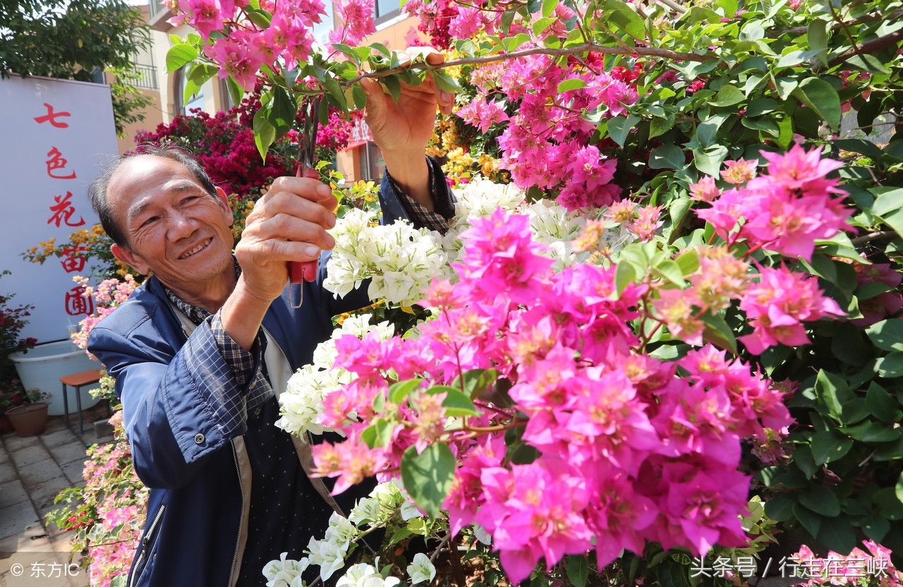
[[[15,363],[15,370],[22,379],[25,389],[40,389],[51,394],[47,400],[50,407],[49,415],[63,415],[62,384],[60,377],[80,373],[88,369],[100,368],[97,360],[88,358],[88,354],[75,346],[70,340],[47,342],[39,344],[27,352],[17,352],[10,356]],[[81,388],[81,409],[87,410],[98,400],[88,394],[88,389],[97,386],[85,386]],[[69,413],[78,413],[78,404],[75,401],[75,390],[69,388]]]

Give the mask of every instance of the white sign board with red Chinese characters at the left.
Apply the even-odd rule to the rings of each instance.
[[[93,305],[74,275],[88,275],[76,256],[43,265],[21,254],[43,241],[66,243],[98,221],[88,184],[116,156],[116,127],[108,86],[62,79],[0,79],[0,293],[14,305],[34,305],[24,337],[39,342],[69,336]],[[82,257],[83,258],[83,257]]]

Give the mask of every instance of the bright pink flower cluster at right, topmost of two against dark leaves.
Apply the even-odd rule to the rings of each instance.
[[[850,228],[846,219],[852,209],[842,204],[842,196],[834,196],[844,193],[837,187],[840,180],[827,178],[841,162],[822,159],[818,149],[807,152],[798,144],[785,154],[763,151],[762,156],[768,170],[758,177],[755,162],[727,163],[722,176],[736,187],[720,196],[711,180],[692,185],[697,199],[712,201],[712,208],[697,214],[728,242],[745,238],[751,247],[811,260],[816,239]]]

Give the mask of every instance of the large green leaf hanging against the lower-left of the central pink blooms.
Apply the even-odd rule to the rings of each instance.
[[[431,517],[442,512],[442,501],[452,489],[454,472],[454,454],[443,443],[431,444],[420,454],[410,446],[401,459],[401,479],[407,494]]]

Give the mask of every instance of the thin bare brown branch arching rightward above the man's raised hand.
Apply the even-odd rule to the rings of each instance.
[[[864,47],[865,45],[863,45]],[[459,65],[485,65],[486,63],[495,63],[496,61],[507,61],[509,59],[517,59],[518,57],[526,57],[528,55],[552,55],[560,57],[562,55],[573,55],[584,51],[595,51],[603,55],[643,55],[647,57],[661,57],[673,61],[712,61],[717,59],[714,55],[703,53],[696,55],[695,53],[681,53],[677,51],[669,51],[667,49],[656,49],[655,47],[603,47],[592,43],[583,43],[574,45],[573,47],[564,47],[562,49],[553,49],[551,47],[534,47],[523,51],[513,51],[510,53],[497,53],[486,57],[466,57],[456,59],[454,61],[445,61],[439,65],[429,65],[427,63],[413,63],[411,65],[402,65],[400,67],[389,70],[378,70],[359,75],[357,78],[348,79],[341,82],[343,86],[350,86],[357,83],[361,79],[379,79],[386,78],[396,73],[403,73],[410,70],[443,70],[445,68],[457,67]]]

